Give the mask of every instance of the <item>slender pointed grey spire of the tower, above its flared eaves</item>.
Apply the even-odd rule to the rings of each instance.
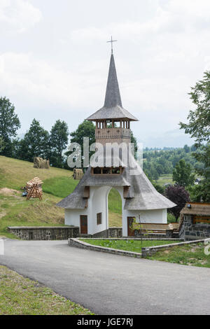
[[[118,77],[116,72],[116,64],[112,53],[109,65],[109,76],[106,85],[106,97],[104,107],[110,109],[117,105],[122,107],[120,90],[118,85]]]

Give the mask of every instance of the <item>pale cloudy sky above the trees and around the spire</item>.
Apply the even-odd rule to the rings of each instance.
[[[190,87],[210,70],[209,0],[0,0],[0,96],[69,131],[104,105],[111,35],[123,107],[144,147],[182,147]]]

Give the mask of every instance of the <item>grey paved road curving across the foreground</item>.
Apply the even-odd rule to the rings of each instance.
[[[0,264],[96,314],[210,314],[210,269],[5,240]]]

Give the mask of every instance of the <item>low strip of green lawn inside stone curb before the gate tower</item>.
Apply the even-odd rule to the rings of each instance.
[[[148,246],[162,246],[163,244],[172,244],[180,241],[167,241],[167,240],[94,240],[94,239],[81,239],[81,241],[87,242],[87,244],[93,244],[94,246],[104,246],[106,248],[120,249],[126,251],[133,251],[134,253],[141,253],[142,247]]]

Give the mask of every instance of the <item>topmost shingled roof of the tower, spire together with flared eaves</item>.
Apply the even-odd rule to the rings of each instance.
[[[103,119],[129,119],[138,121],[129,111],[123,109],[120,90],[118,85],[118,77],[116,73],[116,65],[113,54],[111,54],[109,76],[106,85],[106,97],[104,106],[97,112],[92,114],[87,120],[103,120]]]

